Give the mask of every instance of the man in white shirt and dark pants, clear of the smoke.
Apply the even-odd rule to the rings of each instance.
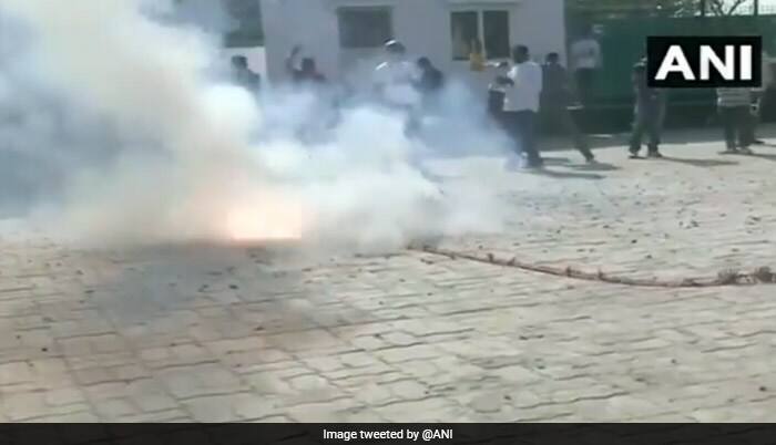
[[[514,65],[500,83],[506,90],[507,130],[514,139],[517,152],[524,156],[525,166],[540,168],[542,158],[537,147],[537,114],[542,92],[542,69],[530,56],[528,46],[514,46]]]

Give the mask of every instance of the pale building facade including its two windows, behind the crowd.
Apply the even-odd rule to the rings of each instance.
[[[491,69],[473,72],[469,54],[480,42],[490,62],[528,45],[535,58],[565,53],[563,0],[255,0],[261,1],[267,74],[285,75],[292,48],[303,46],[331,77],[374,65],[382,44],[401,41],[412,56],[484,87]]]

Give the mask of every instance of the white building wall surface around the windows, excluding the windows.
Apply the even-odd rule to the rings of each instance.
[[[258,1],[258,0],[257,0]],[[340,50],[336,10],[339,7],[390,7],[395,38],[412,56],[426,55],[451,76],[484,87],[494,70],[473,73],[468,62],[452,60],[450,11],[509,9],[510,44],[525,44],[537,58],[549,52],[565,56],[563,0],[261,0],[267,70],[283,79],[285,58],[299,43],[323,72],[338,77],[356,59],[375,51]],[[370,63],[374,63],[371,61]]]

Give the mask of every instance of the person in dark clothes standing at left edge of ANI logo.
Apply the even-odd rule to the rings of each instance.
[[[631,158],[639,158],[644,133],[647,136],[647,157],[663,157],[660,153],[660,131],[663,94],[646,84],[646,64],[636,63],[632,73],[636,103],[633,111],[633,133],[629,152]]]

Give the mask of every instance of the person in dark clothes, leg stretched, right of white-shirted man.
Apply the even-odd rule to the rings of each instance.
[[[588,163],[593,163],[595,157],[588,146],[588,141],[576,127],[574,118],[569,111],[571,92],[569,89],[569,72],[560,63],[557,52],[548,54],[542,66],[542,94],[540,116],[545,126],[560,127],[571,136],[574,147],[584,156]]]

